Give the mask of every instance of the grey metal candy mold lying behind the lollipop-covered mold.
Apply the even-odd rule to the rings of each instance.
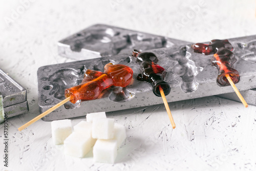
[[[58,42],[60,56],[76,60],[186,45],[188,42],[114,26],[97,24]]]

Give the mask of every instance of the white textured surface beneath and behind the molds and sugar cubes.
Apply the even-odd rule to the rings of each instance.
[[[4,17],[20,1],[0,1],[0,68],[28,90],[30,107],[28,114],[9,119],[8,170],[255,170],[256,107],[218,97],[169,103],[175,130],[163,104],[108,113],[127,129],[116,164],[94,163],[91,152],[82,159],[64,155],[52,143],[50,122],[17,131],[39,114],[37,69],[72,61],[57,55],[56,42],[83,28],[103,23],[194,42],[256,34],[254,0],[207,1],[185,20],[198,2],[36,0],[7,25]],[[2,158],[3,143],[0,151]]]

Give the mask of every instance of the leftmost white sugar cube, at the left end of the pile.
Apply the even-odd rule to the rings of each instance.
[[[55,145],[63,144],[63,141],[72,133],[70,119],[55,120],[51,122],[52,140]]]

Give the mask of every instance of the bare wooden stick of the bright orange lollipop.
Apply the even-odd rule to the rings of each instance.
[[[46,112],[38,115],[37,117],[35,117],[34,119],[28,121],[27,123],[25,123],[24,125],[20,126],[18,128],[18,131],[22,131],[24,130],[26,127],[28,127],[29,125],[31,125],[32,123],[34,123],[35,121],[41,119],[42,117],[48,115],[49,113],[51,113],[52,111],[54,111],[55,109],[59,108],[59,106],[67,103],[70,100],[70,97],[66,98],[65,100],[62,100],[61,102],[59,102],[58,104],[56,104],[55,106],[53,106],[52,108],[48,109]]]

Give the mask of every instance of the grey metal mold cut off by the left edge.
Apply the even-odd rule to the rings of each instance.
[[[0,93],[3,96],[4,112],[8,117],[29,111],[27,90],[0,69]]]

